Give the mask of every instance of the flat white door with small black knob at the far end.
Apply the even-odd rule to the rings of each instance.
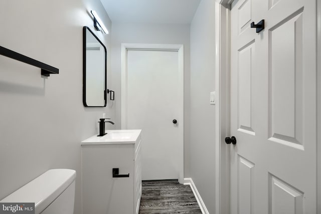
[[[142,180],[179,178],[179,78],[178,51],[127,51],[127,128],[142,129]]]

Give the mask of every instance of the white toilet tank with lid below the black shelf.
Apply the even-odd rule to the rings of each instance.
[[[50,169],[0,202],[35,202],[35,214],[73,214],[76,171]]]

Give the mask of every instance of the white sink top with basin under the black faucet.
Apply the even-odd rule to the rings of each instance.
[[[119,144],[119,143],[135,143],[140,137],[141,129],[129,130],[106,130],[104,136],[94,135],[81,142],[81,145],[90,144]]]

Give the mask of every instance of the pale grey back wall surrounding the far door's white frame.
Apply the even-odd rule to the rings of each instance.
[[[121,43],[184,45],[184,174],[190,169],[190,25],[113,23],[111,70],[115,90],[116,128],[120,128],[120,48]],[[166,85],[164,85],[166,86]],[[161,89],[160,89],[161,90]]]

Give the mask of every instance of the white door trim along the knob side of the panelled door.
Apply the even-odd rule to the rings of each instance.
[[[215,1],[215,213],[230,213],[230,5]]]

